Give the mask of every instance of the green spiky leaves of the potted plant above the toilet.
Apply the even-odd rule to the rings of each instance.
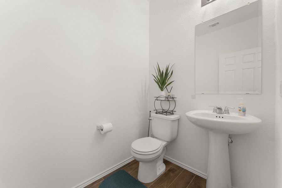
[[[154,67],[156,75],[152,75],[154,76],[154,81],[159,86],[160,91],[164,91],[165,87],[171,85],[171,83],[174,82],[168,82],[173,73],[173,70],[171,70],[172,66],[170,67],[170,64],[168,64],[166,65],[165,70],[161,70],[159,63],[157,62],[156,68]]]

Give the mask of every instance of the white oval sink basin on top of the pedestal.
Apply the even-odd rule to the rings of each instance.
[[[237,113],[217,114],[210,110],[187,112],[186,117],[194,125],[214,132],[226,134],[246,134],[253,132],[262,122],[251,115],[238,116]]]

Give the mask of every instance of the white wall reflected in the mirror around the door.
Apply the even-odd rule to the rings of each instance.
[[[261,17],[256,17],[196,36],[197,93],[219,93],[219,55],[261,47],[262,28],[259,23]]]

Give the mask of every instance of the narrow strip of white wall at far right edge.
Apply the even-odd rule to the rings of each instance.
[[[275,188],[282,187],[282,97],[279,83],[282,81],[282,4],[276,0],[276,96],[275,96]]]

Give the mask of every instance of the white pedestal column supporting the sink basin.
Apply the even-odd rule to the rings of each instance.
[[[206,188],[231,188],[226,133],[209,131],[209,162]]]

